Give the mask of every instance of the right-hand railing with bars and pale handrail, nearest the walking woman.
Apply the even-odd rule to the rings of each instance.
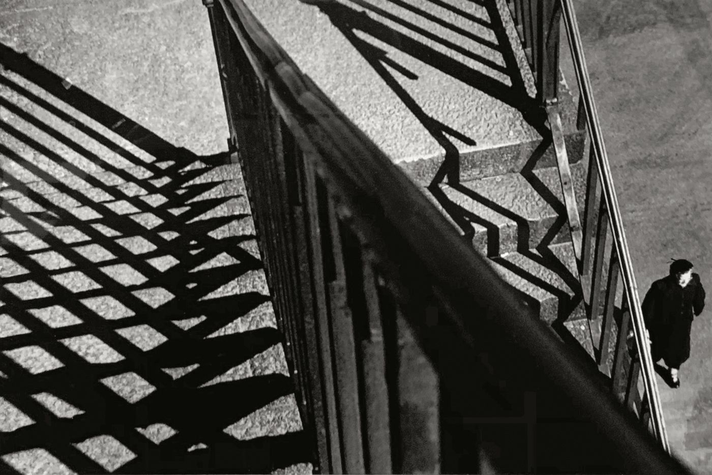
[[[562,189],[580,276],[590,291],[587,294],[588,317],[590,320],[600,318],[601,338],[596,355],[597,364],[602,372],[611,377],[614,394],[634,410],[644,424],[651,426],[661,447],[669,452],[638,287],[572,1],[513,0],[510,8],[538,85],[539,99],[548,110],[560,158],[558,165]],[[577,128],[587,129],[590,144],[583,226],[579,221],[557,110],[561,21],[566,29],[580,91]],[[599,183],[600,194],[597,192]],[[610,246],[607,245],[609,231],[612,238]],[[609,265],[604,268],[606,258]],[[619,276],[622,277],[623,292],[621,300],[617,301]],[[634,348],[629,351],[631,331]],[[642,391],[638,387],[639,375],[642,375],[643,380]]]

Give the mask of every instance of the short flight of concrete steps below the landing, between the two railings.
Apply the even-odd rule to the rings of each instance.
[[[575,125],[576,105],[564,80],[559,97],[577,205],[585,209],[588,147],[585,132]],[[466,152],[454,182],[441,178],[447,167],[441,156],[399,165],[541,320],[562,340],[594,356],[600,319],[590,325],[586,318],[549,138]]]

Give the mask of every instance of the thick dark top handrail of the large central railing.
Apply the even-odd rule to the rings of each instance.
[[[461,239],[402,170],[299,70],[244,1],[219,0],[219,4],[268,98],[295,137],[310,153],[325,157],[320,161],[325,173],[355,190],[363,203],[387,221],[400,239],[397,248],[388,249],[407,248],[417,257],[418,267],[431,278],[441,301],[451,308],[443,317],[448,320],[446,324],[460,330],[456,343],[477,351],[473,341],[478,339],[478,320],[513,335],[515,344],[537,363],[545,380],[577,401],[582,414],[597,424],[601,437],[628,455],[630,467],[641,472],[684,472],[644,437],[629,414],[592,380],[580,360],[543,323],[531,318],[513,288]],[[375,246],[372,251],[379,253],[382,249]],[[394,272],[397,274],[397,269]],[[472,318],[473,309],[488,309],[492,315]]]

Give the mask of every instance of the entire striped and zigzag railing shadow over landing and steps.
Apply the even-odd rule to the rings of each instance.
[[[374,38],[379,43],[392,48],[393,51],[399,51],[422,61],[431,68],[446,73],[469,87],[480,90],[518,110],[528,124],[543,137],[540,147],[533,151],[521,170],[521,174],[550,207],[561,216],[565,216],[565,207],[561,200],[533,172],[538,160],[550,147],[551,133],[546,125],[543,109],[539,107],[533,95],[528,93],[522,65],[515,56],[514,46],[508,36],[505,20],[498,9],[497,2],[473,2],[473,6],[476,8],[464,11],[457,6],[439,0],[431,0],[426,5],[420,6],[400,0],[380,2],[378,6],[362,0],[303,1],[317,5],[328,16],[332,24],[359,51],[361,56],[384,80],[384,83],[394,91],[440,145],[443,150],[444,162],[432,179],[428,192],[459,226],[465,239],[471,240],[474,236],[474,224],[483,226],[487,230],[487,254],[497,255],[503,237],[499,236],[500,228],[496,223],[488,220],[485,216],[468,212],[465,207],[446,196],[441,188],[441,183],[446,177],[448,186],[455,192],[463,194],[469,201],[476,202],[506,219],[511,219],[516,226],[518,251],[540,265],[551,266],[552,270],[570,288],[575,290],[576,295],[572,298],[569,294],[544,283],[543,288],[551,291],[560,299],[562,315],[580,303],[580,284],[577,281],[577,276],[556,259],[548,249],[548,245],[559,234],[564,223],[561,220],[555,220],[544,239],[538,246],[535,246],[536,249],[530,249],[532,247],[529,245],[530,223],[525,216],[519,216],[511,210],[501,207],[460,182],[460,157],[454,140],[464,145],[475,146],[477,145],[476,137],[468,137],[455,130],[451,125],[426,113],[423,105],[418,103],[417,98],[409,94],[407,88],[402,84],[402,80],[397,78],[399,74],[408,80],[418,80],[418,76],[399,64],[394,55],[389,55],[388,51],[365,39]],[[427,11],[431,8],[445,11],[446,15],[435,16]],[[400,15],[395,14],[394,11],[398,11]],[[461,23],[468,24],[472,28],[463,28]],[[424,28],[425,24],[434,28],[426,29]],[[455,36],[459,38],[459,41],[453,41]],[[425,38],[428,43],[419,41],[417,38]],[[522,278],[532,282],[536,280],[535,276],[528,274],[525,269],[513,267],[504,260],[498,261],[498,263],[507,266]]]

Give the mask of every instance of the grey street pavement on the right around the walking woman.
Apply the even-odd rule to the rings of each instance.
[[[575,5],[639,291],[682,257],[712,288],[712,4]],[[712,473],[710,312],[693,323],[681,387],[658,380],[671,446],[700,474]]]

